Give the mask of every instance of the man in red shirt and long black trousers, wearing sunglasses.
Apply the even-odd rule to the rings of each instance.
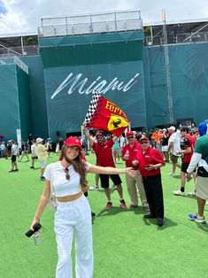
[[[161,227],[164,224],[164,202],[160,167],[165,166],[166,163],[161,153],[150,147],[148,137],[142,136],[139,143],[142,151],[137,152],[132,164],[138,166],[143,176],[143,186],[150,205],[150,214],[144,217],[157,218],[158,226]]]

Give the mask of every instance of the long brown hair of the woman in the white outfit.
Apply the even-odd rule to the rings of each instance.
[[[63,158],[65,158],[65,160],[73,165],[74,171],[77,172],[78,174],[80,174],[81,176],[81,190],[83,192],[88,191],[89,186],[88,186],[88,181],[86,180],[86,164],[85,162],[82,160],[81,158],[81,151],[79,151],[79,154],[76,158],[74,158],[73,160],[69,159],[66,157],[66,150],[68,149],[68,146],[63,145],[63,147],[61,148],[61,153],[59,156],[59,160],[62,160]]]

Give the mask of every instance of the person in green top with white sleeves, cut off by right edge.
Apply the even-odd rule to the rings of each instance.
[[[204,205],[208,199],[208,122],[204,121],[199,125],[198,133],[200,137],[196,140],[195,151],[187,169],[187,176],[191,178],[191,174],[198,166],[196,176],[198,212],[189,214],[189,220],[205,224]]]

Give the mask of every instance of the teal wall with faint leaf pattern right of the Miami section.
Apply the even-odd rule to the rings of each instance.
[[[147,125],[170,124],[164,47],[144,48],[144,81]],[[168,46],[173,122],[193,118],[198,124],[208,118],[208,43]]]

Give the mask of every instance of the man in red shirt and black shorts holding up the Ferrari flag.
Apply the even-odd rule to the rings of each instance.
[[[91,136],[89,135],[89,130],[85,128],[85,134],[88,137],[89,144],[92,149],[96,152],[96,165],[104,167],[115,167],[114,160],[112,158],[112,145],[118,139],[117,136],[114,136],[111,140],[104,142],[104,134],[102,132],[96,133],[96,141],[94,142]],[[125,200],[123,198],[123,189],[121,187],[121,180],[119,174],[100,174],[101,187],[104,189],[105,195],[108,199],[105,209],[109,210],[112,207],[111,192],[109,189],[109,176],[111,176],[112,182],[117,186],[119,192],[119,203],[122,208],[127,208]]]

